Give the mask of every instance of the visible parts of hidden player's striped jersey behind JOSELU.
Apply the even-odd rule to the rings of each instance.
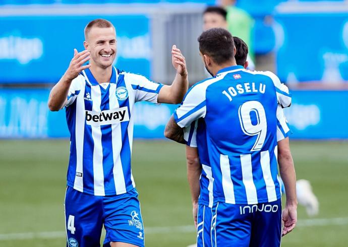
[[[289,136],[290,129],[288,127],[284,111],[280,105],[277,107],[277,142]],[[186,144],[190,147],[197,148],[199,160],[202,165],[202,174],[200,177],[200,195],[198,204],[212,207],[214,202],[213,197],[213,182],[211,166],[209,162],[206,127],[203,118],[199,118],[184,129],[184,138]]]

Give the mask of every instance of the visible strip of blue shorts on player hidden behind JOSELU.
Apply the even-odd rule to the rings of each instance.
[[[198,204],[197,214],[197,247],[211,247],[211,208]]]

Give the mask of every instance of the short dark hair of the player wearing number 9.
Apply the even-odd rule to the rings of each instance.
[[[223,28],[211,28],[198,37],[199,51],[221,65],[235,57],[233,36]]]

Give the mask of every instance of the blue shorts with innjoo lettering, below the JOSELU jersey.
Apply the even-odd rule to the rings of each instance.
[[[280,246],[281,200],[255,205],[215,203],[212,208],[213,247]]]

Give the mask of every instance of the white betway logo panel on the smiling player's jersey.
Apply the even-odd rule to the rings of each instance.
[[[129,121],[127,106],[112,110],[103,110],[101,112],[86,110],[87,125],[112,125],[113,123],[119,123],[124,121]]]

